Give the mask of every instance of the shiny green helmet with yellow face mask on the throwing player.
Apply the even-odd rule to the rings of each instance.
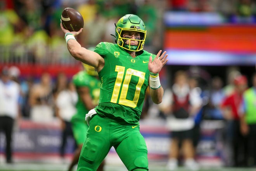
[[[131,39],[131,38],[124,38],[123,31],[136,31],[140,33],[140,40],[138,39]],[[133,15],[133,14],[126,14],[125,16],[121,17],[116,24],[116,43],[119,47],[124,48],[128,51],[140,51],[143,49],[145,44],[145,38],[147,35],[147,31],[145,29],[145,24],[140,19],[140,17]],[[135,40],[138,41],[138,45],[130,45],[126,44],[126,42],[130,42],[127,40]]]

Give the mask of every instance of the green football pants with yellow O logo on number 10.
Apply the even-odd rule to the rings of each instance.
[[[95,115],[90,121],[77,171],[96,171],[112,146],[128,171],[148,170],[147,146],[139,126]]]

